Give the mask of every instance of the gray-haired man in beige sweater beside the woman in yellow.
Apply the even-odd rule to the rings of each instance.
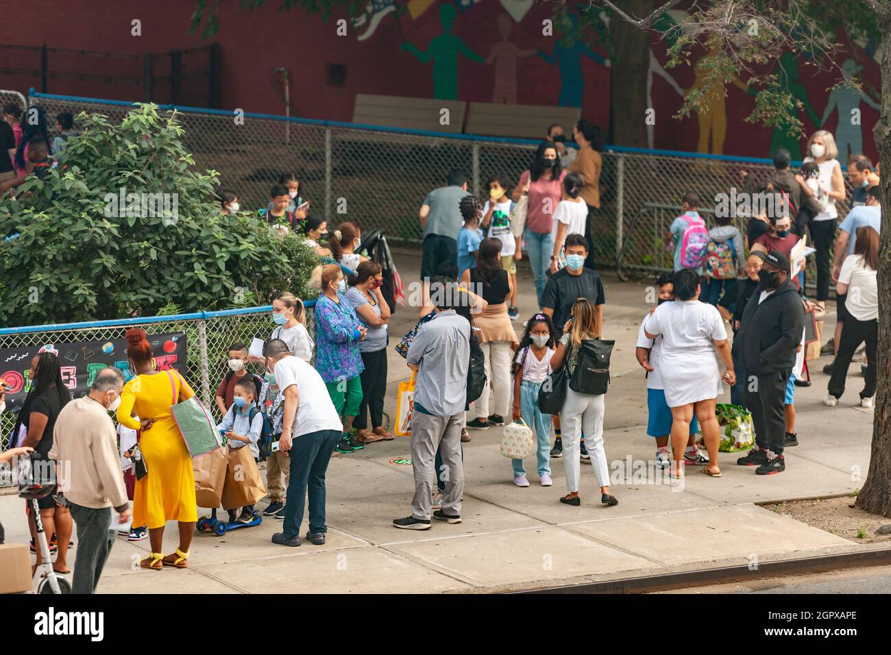
[[[119,523],[130,519],[127,488],[120,473],[117,433],[109,412],[120,405],[124,375],[103,368],[89,392],[62,407],[53,428],[49,458],[57,462],[59,489],[78,527],[78,558],[72,594],[93,594],[114,544],[111,508]]]

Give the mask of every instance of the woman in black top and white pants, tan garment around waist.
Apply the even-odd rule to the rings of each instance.
[[[503,425],[511,401],[511,353],[517,348],[517,332],[513,331],[506,300],[511,297],[511,276],[501,265],[501,241],[495,237],[479,244],[479,260],[475,268],[464,271],[461,282],[486,300],[487,306],[474,322],[480,346],[486,356],[486,378],[495,394],[494,412],[489,414],[489,385],[483,387],[474,409],[477,417],[467,422],[468,428],[488,430]]]

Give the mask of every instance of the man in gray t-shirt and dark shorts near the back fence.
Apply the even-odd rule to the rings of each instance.
[[[427,194],[418,217],[424,228],[424,250],[421,256],[421,280],[429,280],[444,261],[458,261],[458,232],[463,218],[458,209],[461,199],[470,195],[465,170],[453,170],[446,178],[446,186]]]

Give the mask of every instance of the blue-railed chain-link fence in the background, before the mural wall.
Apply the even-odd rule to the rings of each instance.
[[[36,93],[29,101],[39,102],[51,118],[60,111],[90,111],[120,120],[131,107],[128,102]],[[516,183],[539,143],[179,109],[185,146],[196,166],[216,170],[221,185],[238,194],[242,208],[266,206],[278,177],[295,172],[302,179],[300,195],[330,228],[351,220],[366,229],[385,230],[391,242],[421,241],[418,208],[431,189],[445,183],[449,170],[466,169],[471,189],[480,194],[488,176],[498,174]],[[618,146],[609,146],[602,157],[595,256],[599,266],[613,267],[622,253],[622,265],[630,270],[670,268],[666,231],[660,226],[664,217],[643,211],[645,207],[666,206],[665,213],[680,204],[684,192],[692,191],[699,194],[702,209],[712,209],[719,193],[740,191],[740,171],[766,179],[773,170],[768,160]],[[838,204],[839,217],[847,210],[843,204]],[[742,229],[744,220],[737,219]]]

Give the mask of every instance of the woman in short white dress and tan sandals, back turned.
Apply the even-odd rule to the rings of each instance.
[[[718,310],[699,302],[701,288],[696,271],[689,268],[678,271],[673,283],[675,300],[656,307],[644,326],[649,339],[662,335],[658,369],[672,413],[672,475],[683,477],[683,451],[695,412],[708,451],[703,472],[719,478],[720,428],[715,418],[715,402],[723,389],[718,356],[726,367],[723,380],[731,386],[736,381],[727,332]]]

